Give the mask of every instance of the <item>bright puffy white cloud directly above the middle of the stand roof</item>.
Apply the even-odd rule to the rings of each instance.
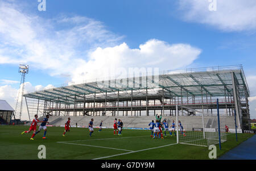
[[[126,43],[115,47],[97,48],[90,53],[88,62],[81,62],[73,70],[72,81],[114,76],[113,73],[121,74],[118,73],[118,68],[123,68],[126,72],[128,68],[183,68],[192,64],[200,53],[200,49],[188,44],[170,45],[155,39],[139,45],[139,49],[131,49]]]

